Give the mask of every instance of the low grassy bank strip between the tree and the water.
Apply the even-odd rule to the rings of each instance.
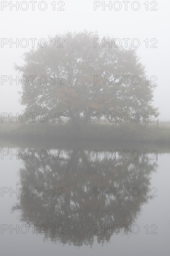
[[[1,138],[57,139],[89,141],[131,141],[170,143],[170,126],[161,125],[81,125],[76,128],[67,124],[49,123],[8,123],[0,124]]]

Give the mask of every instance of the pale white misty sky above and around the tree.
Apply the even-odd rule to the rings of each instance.
[[[15,2],[13,1],[13,3]],[[108,8],[103,11],[102,7],[94,11],[93,0],[64,0],[65,11],[52,11],[52,5],[50,5],[52,0],[46,2],[48,3],[46,11],[38,10],[37,5],[35,11],[10,11],[9,7],[0,11],[0,38],[48,39],[48,35],[55,36],[56,33],[70,31],[80,32],[84,29],[98,31],[101,38],[107,34],[120,39],[138,38],[141,41],[141,46],[137,49],[137,54],[146,66],[147,75],[158,77],[158,86],[154,93],[154,106],[159,107],[161,113],[159,119],[170,121],[170,2],[168,0],[157,1],[158,11],[146,11],[145,0],[139,0],[141,9],[138,11],[132,11],[130,7],[127,11],[124,11],[124,7],[120,11],[109,11]],[[149,40],[156,38],[158,40],[157,48],[146,48],[144,43],[146,38]],[[9,44],[0,48],[0,75],[15,77],[17,73],[13,64],[14,62],[22,64],[21,56],[28,50],[29,47],[16,48],[13,46],[10,48]],[[10,85],[9,82],[0,87],[0,112],[22,112],[24,107],[19,103],[18,94],[21,87],[15,84]]]

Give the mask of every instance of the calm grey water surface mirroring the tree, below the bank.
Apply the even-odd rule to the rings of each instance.
[[[3,256],[169,255],[168,150],[40,144],[1,146]]]

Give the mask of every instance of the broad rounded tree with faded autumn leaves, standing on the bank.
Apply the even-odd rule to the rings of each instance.
[[[97,33],[57,34],[56,47],[51,38],[47,47],[25,53],[25,64],[16,66],[16,70],[29,78],[21,92],[21,103],[27,113],[45,112],[49,116],[64,113],[78,125],[88,121],[94,112],[149,115],[156,112],[152,106],[155,86],[150,81],[146,85],[144,66],[136,51],[102,44],[94,47],[95,38],[99,38]],[[30,78],[33,75],[37,75],[34,84]],[[44,85],[43,78],[40,83],[38,80],[41,75],[47,77]],[[118,84],[117,79],[114,83],[105,81],[104,85],[101,80],[95,84],[96,75],[99,80],[120,76],[122,82]],[[130,76],[127,83],[124,75]],[[140,77],[137,85],[131,82],[134,75]]]

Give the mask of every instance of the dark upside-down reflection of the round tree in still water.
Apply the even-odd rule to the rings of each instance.
[[[45,187],[48,191],[63,187],[65,196],[52,197],[52,192],[45,197],[20,196],[20,202],[13,210],[20,210],[21,221],[29,224],[65,225],[64,235],[53,234],[49,228],[45,238],[53,242],[92,245],[94,236],[100,243],[109,241],[111,235],[108,232],[94,235],[94,224],[131,225],[148,199],[144,193],[138,197],[94,197],[94,187],[105,187],[106,190],[109,187],[137,187],[143,191],[149,187],[150,174],[157,164],[144,156],[139,160],[94,161],[90,151],[74,149],[65,150],[65,153],[68,158],[62,161],[53,160],[52,155],[46,160],[27,159],[25,168],[20,170],[22,187]]]

